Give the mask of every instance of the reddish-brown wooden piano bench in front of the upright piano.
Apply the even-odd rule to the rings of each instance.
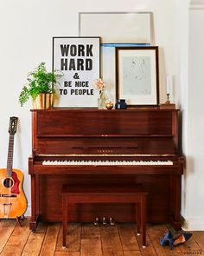
[[[143,246],[146,246],[146,196],[147,191],[141,184],[118,187],[115,185],[85,186],[64,184],[62,195],[63,248],[67,242],[68,204],[74,203],[135,203],[137,211],[137,235],[142,227]]]

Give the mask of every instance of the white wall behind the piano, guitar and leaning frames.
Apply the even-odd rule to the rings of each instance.
[[[28,157],[31,154],[31,103],[23,108],[18,103],[18,95],[26,82],[28,71],[40,62],[46,62],[52,69],[52,36],[78,36],[78,13],[80,11],[152,11],[154,16],[155,44],[160,47],[160,97],[164,102],[165,75],[174,76],[174,99],[180,105],[183,77],[179,59],[182,30],[180,14],[186,10],[187,0],[0,0],[0,167],[6,167],[8,147],[8,124],[11,115],[20,119],[20,128],[15,138],[14,167],[22,170],[25,176],[24,191],[29,200],[30,182],[28,174]],[[182,4],[183,3],[183,4]],[[182,10],[180,10],[182,8]],[[185,11],[183,16],[185,17]],[[185,18],[182,19],[185,21]],[[185,27],[185,24],[184,24]],[[187,43],[187,42],[186,42]],[[185,51],[182,62],[185,62]],[[183,73],[181,76],[180,74]],[[105,77],[104,77],[105,79]],[[186,138],[187,139],[187,138]],[[191,174],[194,175],[194,174]],[[197,176],[194,177],[197,179]],[[203,192],[202,188],[201,191]],[[185,196],[185,205],[191,196]],[[183,213],[185,211],[183,210]],[[199,205],[194,209],[194,216],[200,214]]]

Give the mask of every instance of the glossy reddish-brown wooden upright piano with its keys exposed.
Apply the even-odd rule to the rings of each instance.
[[[62,184],[106,186],[142,183],[148,191],[147,221],[181,229],[183,157],[177,109],[32,110],[30,229],[61,221]],[[79,204],[69,221],[135,218],[132,204]]]

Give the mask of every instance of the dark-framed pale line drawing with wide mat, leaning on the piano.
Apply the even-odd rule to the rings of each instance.
[[[158,47],[116,47],[116,100],[128,107],[159,102]]]

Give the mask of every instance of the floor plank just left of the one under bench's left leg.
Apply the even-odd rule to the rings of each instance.
[[[57,243],[57,237],[60,230],[60,224],[49,224],[43,245],[41,247],[40,256],[52,256],[54,255],[55,246]]]

